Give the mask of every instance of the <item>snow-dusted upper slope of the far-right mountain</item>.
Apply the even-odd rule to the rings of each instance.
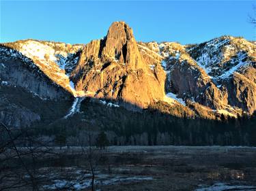
[[[199,46],[190,50],[197,48]],[[212,39],[203,48],[199,48],[200,56],[196,58],[196,62],[208,75],[211,73],[211,78],[216,80],[225,79],[241,67],[250,64],[251,61],[246,61],[244,58],[253,56],[253,52],[255,52],[255,47],[245,39],[221,37]],[[223,68],[226,63],[228,65],[233,64],[233,67]]]

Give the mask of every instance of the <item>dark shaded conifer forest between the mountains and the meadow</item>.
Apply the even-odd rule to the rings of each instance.
[[[95,137],[104,132],[109,145],[256,145],[256,114],[221,115],[219,120],[179,118],[156,109],[106,107],[88,99],[81,111],[69,120],[34,124],[33,132],[61,145],[86,144],[88,130]]]

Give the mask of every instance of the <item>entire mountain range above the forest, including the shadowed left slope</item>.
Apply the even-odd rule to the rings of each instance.
[[[125,22],[89,44],[34,39],[0,45],[0,120],[67,119],[89,104],[156,109],[218,120],[256,109],[256,43],[223,36],[201,44],[138,42]]]

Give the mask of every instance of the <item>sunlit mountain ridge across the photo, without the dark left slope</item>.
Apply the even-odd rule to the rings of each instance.
[[[143,43],[135,40],[128,24],[113,22],[106,37],[89,44],[31,39],[1,44],[3,58],[15,60],[19,58],[6,53],[4,47],[29,58],[31,65],[68,97],[112,100],[134,111],[151,106],[161,110],[162,104],[167,104],[181,108],[179,114],[169,114],[186,113],[192,118],[236,117],[243,112],[253,114],[256,109],[256,47],[238,37],[223,36],[185,46]],[[15,70],[14,61],[12,64]],[[1,72],[0,77],[1,86],[10,84],[8,75]],[[37,90],[32,92],[38,94]]]

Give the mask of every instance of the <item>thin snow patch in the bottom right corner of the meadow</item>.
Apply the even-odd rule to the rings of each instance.
[[[256,186],[228,186],[225,183],[218,183],[210,187],[198,188],[195,191],[228,191],[228,190],[255,191],[255,189],[256,189]]]

